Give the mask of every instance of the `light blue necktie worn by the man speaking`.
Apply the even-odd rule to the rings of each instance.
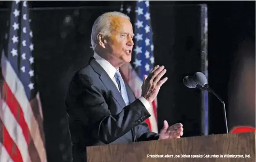
[[[115,78],[115,81],[118,84],[119,91],[120,91],[126,105],[129,105],[129,98],[128,98],[128,94],[127,94],[127,91],[126,91],[125,82],[124,82],[119,70],[117,70],[115,72],[114,78]]]

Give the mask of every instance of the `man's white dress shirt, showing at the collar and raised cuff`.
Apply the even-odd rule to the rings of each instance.
[[[99,54],[94,53],[93,57],[95,58],[97,63],[99,63],[100,66],[107,72],[107,74],[112,79],[112,81],[114,82],[116,88],[119,91],[118,84],[117,84],[117,82],[114,79],[114,74],[115,74],[117,69],[115,67],[113,67],[113,65],[110,64],[107,60],[105,60],[104,58],[100,57]],[[146,109],[150,108],[149,102],[144,97],[141,96],[139,99],[142,102],[142,104],[145,106]]]

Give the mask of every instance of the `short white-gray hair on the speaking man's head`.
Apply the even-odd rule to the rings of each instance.
[[[101,32],[103,36],[109,35],[111,30],[111,18],[113,16],[125,17],[130,20],[129,16],[119,12],[108,12],[101,14],[94,22],[91,33],[91,48],[95,50],[98,41],[98,34]]]

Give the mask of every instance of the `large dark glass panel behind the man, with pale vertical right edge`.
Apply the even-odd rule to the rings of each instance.
[[[89,48],[93,22],[104,12],[119,10],[120,6],[30,10],[49,162],[70,161],[67,88],[93,54]],[[167,68],[169,78],[157,96],[158,129],[167,120],[170,125],[183,123],[184,136],[207,134],[207,122],[201,122],[207,121],[207,95],[183,85],[186,75],[197,71],[207,75],[206,13],[204,5],[151,7],[155,63]],[[0,32],[8,16],[7,11],[0,12]]]

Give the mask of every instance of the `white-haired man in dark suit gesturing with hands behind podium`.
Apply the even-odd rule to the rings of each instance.
[[[72,140],[73,162],[86,161],[86,147],[179,138],[181,123],[150,132],[144,122],[147,111],[167,78],[166,69],[156,66],[144,77],[142,96],[135,99],[123,81],[119,67],[131,61],[133,29],[129,17],[118,12],[102,14],[92,27],[95,52],[88,65],[73,76],[66,105]]]

